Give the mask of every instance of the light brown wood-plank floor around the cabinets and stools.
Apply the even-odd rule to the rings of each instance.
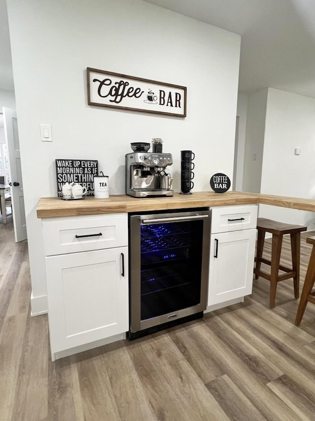
[[[289,256],[284,239],[283,263]],[[1,421],[315,420],[315,306],[296,327],[292,280],[272,310],[259,278],[243,304],[54,363],[47,315],[30,317],[30,294],[27,242],[0,224]]]

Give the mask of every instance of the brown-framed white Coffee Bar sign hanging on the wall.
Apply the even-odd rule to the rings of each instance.
[[[88,104],[186,117],[186,86],[87,68]]]

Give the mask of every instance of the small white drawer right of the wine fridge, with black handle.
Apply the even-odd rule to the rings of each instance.
[[[257,205],[212,208],[211,233],[256,228]]]

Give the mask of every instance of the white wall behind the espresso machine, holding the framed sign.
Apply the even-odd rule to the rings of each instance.
[[[7,0],[25,187],[32,311],[46,296],[41,196],[56,196],[55,158],[98,159],[125,192],[130,142],[163,139],[180,191],[180,151],[195,153],[194,191],[233,174],[240,36],[141,0]],[[87,105],[86,68],[187,86],[187,117]],[[52,125],[42,143],[39,124]],[[38,306],[35,306],[37,301]],[[36,307],[36,308],[35,308]]]

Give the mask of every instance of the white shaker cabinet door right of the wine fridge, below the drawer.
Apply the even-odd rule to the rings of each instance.
[[[208,306],[252,293],[256,229],[211,235]]]

